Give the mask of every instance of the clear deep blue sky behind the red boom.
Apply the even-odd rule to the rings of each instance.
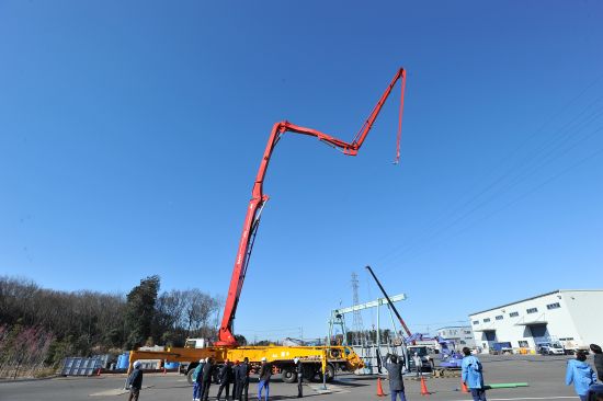
[[[272,124],[289,135],[236,322],[322,335],[406,293],[413,331],[601,288],[603,4],[588,1],[0,1],[0,274],[44,287],[225,295]],[[374,313],[363,317],[365,325]],[[350,317],[351,321],[351,317]]]

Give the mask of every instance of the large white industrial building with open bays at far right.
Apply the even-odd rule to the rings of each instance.
[[[476,345],[483,352],[511,347],[533,352],[559,341],[566,350],[603,344],[599,311],[603,290],[559,289],[469,314]],[[510,343],[510,344],[509,344]]]

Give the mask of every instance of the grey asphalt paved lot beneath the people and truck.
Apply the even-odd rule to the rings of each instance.
[[[511,400],[572,400],[578,399],[573,388],[564,383],[566,357],[545,356],[482,356],[486,383],[528,382],[527,388],[499,389],[488,391],[490,401]],[[592,358],[592,357],[591,357]],[[592,364],[592,360],[589,362]],[[100,377],[68,377],[47,380],[32,380],[19,382],[0,382],[1,401],[77,401],[125,400],[127,394],[121,390],[125,380],[124,375],[102,375]],[[379,399],[376,396],[375,377],[356,377],[353,375],[339,376],[328,385],[327,392],[320,389],[319,383],[306,383],[305,394],[315,401],[320,400],[369,400]],[[420,394],[420,382],[406,380],[406,393],[409,400],[428,399]],[[470,396],[459,391],[458,378],[428,378],[428,389],[431,392],[429,400],[470,400]],[[250,400],[255,400],[257,379],[250,386]],[[389,393],[388,382],[384,381],[384,389]],[[213,385],[209,391],[215,400],[217,386]],[[294,385],[283,383],[275,377],[271,385],[272,400],[287,400],[296,398]],[[147,374],[140,401],[183,400],[192,399],[192,387],[184,376],[178,374]],[[383,400],[383,399],[382,399]]]

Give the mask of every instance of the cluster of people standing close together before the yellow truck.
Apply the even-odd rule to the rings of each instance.
[[[209,357],[198,362],[192,377],[193,401],[207,401],[212,377],[217,368],[217,365],[214,364],[214,358]],[[235,364],[226,359],[218,371],[219,388],[217,399],[220,399],[224,391],[225,400],[227,400],[230,393],[230,385],[232,385],[232,399],[247,401],[249,398],[250,371],[251,365],[248,358],[244,358],[242,363],[235,360]]]

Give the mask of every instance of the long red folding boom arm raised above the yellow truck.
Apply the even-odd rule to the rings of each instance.
[[[364,125],[361,127],[354,140],[352,142],[345,142],[341,139],[334,138],[330,135],[323,134],[319,130],[300,127],[298,125],[292,124],[289,122],[280,122],[274,124],[272,131],[270,133],[270,138],[268,140],[266,148],[264,150],[264,157],[260,163],[260,170],[255,177],[255,183],[253,184],[252,197],[249,202],[249,207],[247,208],[247,215],[244,217],[243,230],[241,233],[241,239],[239,241],[239,250],[237,252],[237,260],[235,261],[235,268],[232,270],[232,278],[230,279],[230,287],[228,288],[228,298],[226,299],[226,305],[224,307],[224,317],[221,320],[221,325],[218,332],[218,341],[216,345],[225,346],[236,346],[237,341],[232,334],[232,322],[235,320],[235,313],[237,312],[237,306],[239,303],[239,297],[241,295],[241,289],[243,287],[244,276],[247,273],[247,266],[249,264],[249,259],[251,255],[251,250],[253,248],[253,241],[255,238],[255,232],[258,230],[258,225],[260,224],[260,217],[262,214],[262,208],[269,199],[269,196],[263,193],[263,183],[264,176],[266,174],[268,164],[270,162],[270,157],[274,150],[274,147],[281,139],[281,136],[286,131],[304,134],[312,137],[317,137],[319,140],[332,146],[333,148],[341,149],[344,154],[356,156],[364,139],[368,135],[368,131],[373,127],[375,119],[379,115],[379,112],[385,104],[385,101],[391,93],[396,82],[401,79],[401,95],[400,95],[400,113],[398,119],[398,138],[396,147],[396,160],[400,158],[400,135],[402,129],[402,110],[405,101],[405,85],[406,85],[406,71],[403,68],[400,68],[394,79],[385,90],[384,94],[373,108],[373,112],[364,122]]]

